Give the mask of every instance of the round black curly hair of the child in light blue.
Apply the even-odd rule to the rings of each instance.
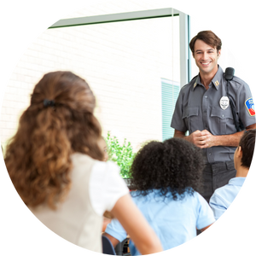
[[[201,149],[181,138],[164,143],[152,141],[141,148],[131,166],[132,183],[147,195],[151,189],[171,190],[173,199],[188,190],[201,189],[203,159]]]

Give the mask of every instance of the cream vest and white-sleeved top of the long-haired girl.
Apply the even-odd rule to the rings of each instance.
[[[113,162],[72,155],[72,188],[66,200],[51,210],[46,204],[26,208],[32,218],[55,238],[86,253],[102,255],[103,213],[129,193]]]

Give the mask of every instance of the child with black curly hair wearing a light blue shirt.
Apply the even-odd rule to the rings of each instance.
[[[148,143],[131,166],[132,185],[137,188],[131,196],[160,238],[165,253],[195,241],[196,228],[206,234],[215,226],[212,209],[197,192],[202,169],[201,148],[181,138]],[[113,219],[104,236],[115,246],[127,234]],[[141,255],[132,241],[130,250],[133,256]]]

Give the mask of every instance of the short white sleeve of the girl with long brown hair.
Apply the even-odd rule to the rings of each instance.
[[[125,181],[119,174],[119,166],[112,161],[96,161],[90,175],[90,202],[100,216],[110,212],[123,195],[129,194]]]

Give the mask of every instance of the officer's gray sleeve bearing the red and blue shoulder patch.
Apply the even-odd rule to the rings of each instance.
[[[256,113],[251,115],[252,112],[250,114],[250,111],[246,106],[246,102],[250,98],[252,98],[252,94],[249,90],[249,86],[245,82],[241,81],[241,86],[239,87],[238,93],[236,94],[236,102],[239,102],[239,106],[237,106],[239,109],[238,116],[245,127],[248,125],[256,124]]]

